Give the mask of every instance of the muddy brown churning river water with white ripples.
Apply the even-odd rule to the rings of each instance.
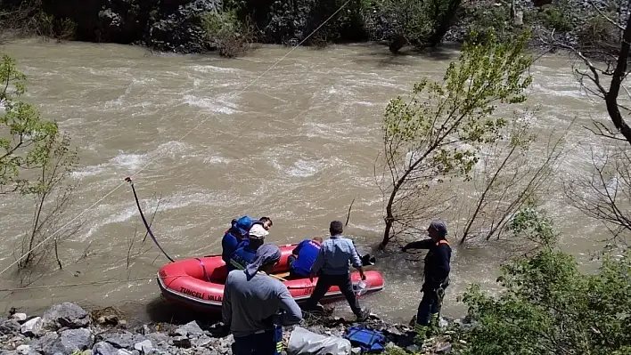
[[[229,222],[242,214],[271,216],[275,226],[269,239],[281,244],[325,235],[332,219],[344,221],[353,198],[347,232],[357,245],[375,246],[381,240],[383,204],[373,165],[381,151],[384,108],[392,97],[409,92],[414,81],[442,77],[457,52],[447,48],[392,57],[387,48],[373,44],[299,48],[258,78],[287,51],[262,46],[247,57],[223,60],[37,39],[4,46],[29,77],[27,99],[45,117],[58,120],[79,148],[80,168],[73,178],[80,186],[69,217],[142,169],[134,175],[135,187],[146,214],[155,206],[152,195],[161,195],[153,229],[174,258],[217,254]],[[529,104],[541,105],[535,125],[543,136],[566,129],[578,117],[561,179],[588,173],[590,148],[603,148],[582,125],[591,118],[606,119],[602,101],[580,92],[567,57],[545,56],[531,73]],[[545,151],[546,144],[542,139],[533,154]],[[554,183],[561,190],[561,182]],[[16,201],[0,200],[2,269],[15,260],[13,249],[32,214],[30,203]],[[587,262],[604,237],[600,226],[561,195],[551,195],[545,203],[565,236],[563,246]],[[150,304],[159,297],[154,276],[167,260],[150,239],[141,249],[148,250],[127,264],[135,229],[132,254],[138,253],[144,234],[129,186],[119,186],[81,221],[78,235],[61,248],[64,269],[33,286],[143,279],[4,292],[0,309],[36,311],[62,301]],[[463,311],[456,296],[468,283],[493,287],[494,270],[502,261],[501,246],[492,243],[454,249],[446,315]],[[76,262],[86,250],[87,256]],[[384,273],[386,288],[364,302],[386,319],[408,320],[418,303],[421,268],[422,263],[401,254],[382,257],[377,269]],[[2,288],[19,284],[12,272],[0,279]],[[340,309],[349,312],[346,303]]]

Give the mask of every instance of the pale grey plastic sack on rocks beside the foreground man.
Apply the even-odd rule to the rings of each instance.
[[[299,354],[332,354],[348,355],[351,351],[350,342],[337,336],[319,335],[303,327],[296,327],[291,332],[287,352]]]

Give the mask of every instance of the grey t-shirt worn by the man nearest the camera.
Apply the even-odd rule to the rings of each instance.
[[[230,271],[221,306],[224,324],[236,337],[274,329],[273,323],[292,326],[302,321],[302,311],[287,286],[260,272],[248,280],[242,270]],[[278,311],[283,313],[276,315]]]

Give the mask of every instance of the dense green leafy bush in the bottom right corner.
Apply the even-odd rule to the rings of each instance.
[[[463,333],[462,354],[631,353],[631,250],[605,254],[594,275],[562,253],[544,211],[516,214],[512,231],[539,248],[502,268],[504,292],[491,296],[479,286],[463,296],[476,326]]]

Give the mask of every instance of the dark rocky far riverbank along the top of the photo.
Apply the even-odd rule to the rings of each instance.
[[[22,6],[27,2],[6,0],[4,4]],[[552,41],[549,35],[554,33],[554,41],[565,45],[617,47],[617,29],[603,20],[602,14],[625,21],[628,8],[623,3],[618,6],[605,0],[465,0],[444,40],[462,42],[471,29],[484,31],[489,27],[510,39],[516,31],[528,27],[536,32],[533,41],[537,45]],[[241,51],[243,43],[250,41],[298,44],[341,4],[344,2],[321,4],[314,0],[292,0],[286,4],[272,0],[260,4],[228,0],[41,0],[41,11],[47,17],[44,28],[39,26],[35,32],[53,32],[55,36],[73,33],[81,41],[141,44],[165,52],[221,51],[222,46]],[[306,44],[406,42],[402,38],[415,33],[399,33],[408,31],[409,26],[402,25],[401,16],[408,14],[398,7],[397,0],[351,1]],[[420,23],[414,26],[426,26],[431,16],[422,13],[427,12],[424,7],[417,7],[415,12],[420,13],[415,16]],[[39,10],[26,9],[25,16],[41,17],[36,15]],[[21,25],[25,21],[34,23],[28,17],[17,22]],[[226,52],[230,51],[228,48]]]

